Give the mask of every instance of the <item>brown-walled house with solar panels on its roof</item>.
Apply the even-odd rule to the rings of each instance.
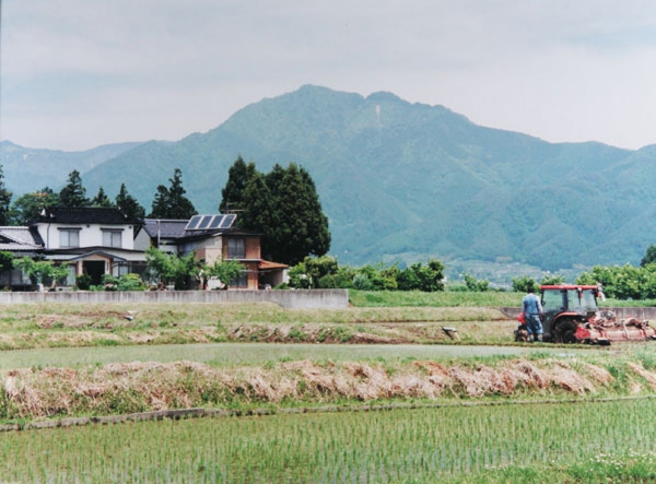
[[[261,258],[260,234],[235,227],[235,214],[195,215],[191,220],[144,219],[136,248],[187,256],[211,265],[216,261],[236,260],[245,267],[231,288],[273,287],[286,281],[288,265]],[[227,282],[227,281],[223,281]]]

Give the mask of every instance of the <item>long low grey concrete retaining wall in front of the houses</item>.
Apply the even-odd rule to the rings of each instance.
[[[118,292],[54,292],[3,293],[2,304],[75,303],[274,303],[290,309],[343,309],[349,307],[347,290],[302,291],[118,291]]]

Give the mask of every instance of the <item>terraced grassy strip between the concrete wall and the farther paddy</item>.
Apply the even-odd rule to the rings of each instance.
[[[130,311],[132,319],[126,316]],[[436,343],[443,326],[465,341],[509,341],[513,326],[485,307],[284,309],[272,304],[8,305],[0,349],[126,346],[212,342]],[[478,328],[477,328],[478,326]],[[467,339],[469,338],[469,339]]]

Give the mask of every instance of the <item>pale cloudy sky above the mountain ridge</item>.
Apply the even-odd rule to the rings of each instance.
[[[177,141],[315,84],[656,144],[653,0],[0,0],[0,139]]]

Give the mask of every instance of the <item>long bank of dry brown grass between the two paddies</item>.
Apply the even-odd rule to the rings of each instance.
[[[656,386],[656,375],[635,373]],[[283,362],[214,368],[192,362],[121,363],[85,369],[23,368],[5,375],[0,415],[48,418],[188,408],[298,405],[597,394],[614,381],[606,368],[563,361],[495,364]]]

